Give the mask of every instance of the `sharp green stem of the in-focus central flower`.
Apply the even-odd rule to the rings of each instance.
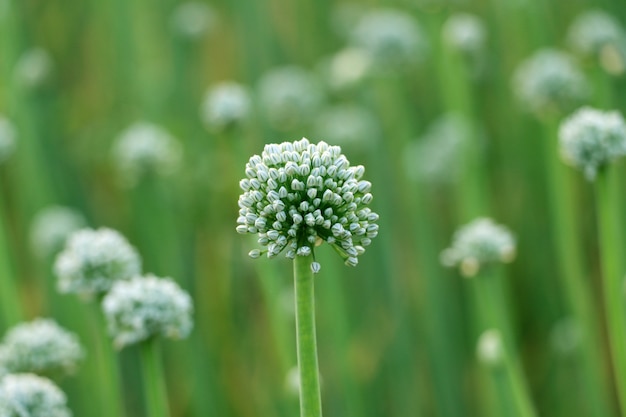
[[[296,340],[300,373],[300,417],[321,417],[317,343],[315,338],[315,292],[313,256],[296,256],[293,277],[296,296]]]

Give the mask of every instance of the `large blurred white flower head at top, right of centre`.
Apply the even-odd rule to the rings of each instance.
[[[419,64],[428,50],[426,35],[415,19],[393,9],[365,13],[350,40],[353,46],[366,51],[374,68],[382,72]]]

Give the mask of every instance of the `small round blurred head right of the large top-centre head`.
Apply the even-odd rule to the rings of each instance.
[[[464,54],[475,54],[485,48],[487,30],[484,22],[469,13],[457,13],[448,18],[442,28],[443,39]]]

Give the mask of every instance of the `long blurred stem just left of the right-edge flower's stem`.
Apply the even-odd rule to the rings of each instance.
[[[550,118],[543,123],[544,137],[543,158],[546,171],[546,185],[549,203],[553,242],[556,252],[556,264],[561,286],[565,292],[569,310],[582,329],[581,349],[579,352],[580,383],[586,397],[583,404],[589,413],[611,416],[609,387],[604,370],[602,353],[601,320],[597,315],[593,288],[588,283],[588,267],[582,253],[580,236],[580,216],[577,210],[577,198],[570,169],[558,155],[557,133],[558,120]],[[591,414],[589,414],[591,415]]]

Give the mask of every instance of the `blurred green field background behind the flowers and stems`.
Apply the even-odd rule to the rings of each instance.
[[[0,317],[0,334],[35,317],[76,332],[87,357],[58,383],[74,415],[101,415],[92,307],[57,293],[59,248],[42,254],[33,231],[41,210],[70,207],[86,225],[122,232],[144,271],[193,297],[192,335],[163,345],[173,416],[297,415],[291,264],[250,259],[256,242],[235,226],[248,158],[307,137],[365,166],[380,214],[357,267],[318,249],[326,415],[503,415],[476,359],[471,279],[440,263],[460,225],[489,216],[517,240],[500,295],[539,414],[597,416],[577,356],[585,335],[555,260],[544,163],[546,141],[557,147],[546,119],[582,104],[626,106],[624,45],[583,56],[572,44],[572,23],[592,9],[626,24],[618,0],[0,0],[0,114],[16,138],[0,162],[0,279],[15,284],[21,311]],[[372,13],[389,18],[367,26]],[[449,22],[461,13],[475,19],[459,34]],[[518,99],[514,73],[541,48],[569,54],[584,97],[538,110]],[[243,107],[206,104],[225,81],[243,88]],[[131,174],[114,148],[138,122],[177,145],[156,157],[126,150],[137,152]],[[167,155],[168,169],[154,162]],[[575,199],[564,206],[576,211],[601,317],[593,190],[568,172]],[[138,352],[119,359],[128,415],[144,415]]]

